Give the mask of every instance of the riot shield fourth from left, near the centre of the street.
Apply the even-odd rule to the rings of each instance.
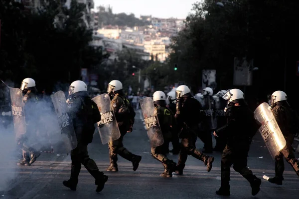
[[[146,97],[139,102],[145,119],[146,128],[148,130],[151,147],[162,145],[164,143],[163,134],[152,99],[150,97]]]

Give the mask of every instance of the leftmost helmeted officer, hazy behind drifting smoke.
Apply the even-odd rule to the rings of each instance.
[[[40,156],[40,153],[34,148],[27,145],[27,140],[30,136],[34,136],[33,133],[37,131],[35,127],[34,109],[38,103],[38,98],[36,96],[37,89],[35,87],[35,81],[32,78],[23,79],[20,89],[24,95],[24,110],[26,118],[27,131],[21,137],[18,137],[18,144],[22,146],[23,160],[17,163],[20,166],[30,166],[36,159]]]

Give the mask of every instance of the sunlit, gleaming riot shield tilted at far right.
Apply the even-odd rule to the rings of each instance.
[[[266,146],[273,157],[286,146],[286,139],[281,132],[270,106],[267,103],[262,103],[255,111],[254,117],[262,126],[259,129]]]

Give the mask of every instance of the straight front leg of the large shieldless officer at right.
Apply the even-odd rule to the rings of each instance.
[[[230,167],[233,164],[232,151],[226,146],[223,150],[221,157],[221,187],[216,191],[217,195],[229,196],[230,195]]]

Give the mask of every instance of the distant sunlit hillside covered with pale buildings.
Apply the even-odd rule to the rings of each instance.
[[[93,45],[103,47],[111,60],[123,49],[132,50],[149,60],[151,55],[164,62],[169,54],[171,37],[184,26],[183,19],[162,19],[125,13],[113,14],[112,7],[99,6],[92,12],[94,21]]]

